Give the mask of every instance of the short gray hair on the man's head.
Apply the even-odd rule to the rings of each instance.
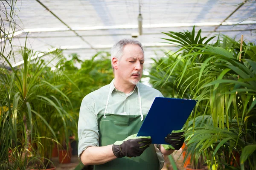
[[[143,51],[144,54],[144,50],[142,47],[142,44],[135,39],[122,39],[119,42],[117,42],[115,45],[113,45],[113,47],[111,48],[111,61],[112,59],[115,57],[117,60],[121,59],[121,57],[123,56],[123,49],[125,47],[125,45],[139,45],[140,48]],[[112,62],[111,62],[111,66],[113,68]]]

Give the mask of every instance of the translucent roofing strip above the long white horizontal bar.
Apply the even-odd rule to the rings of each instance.
[[[19,0],[15,12],[18,25],[25,28],[66,28],[68,26],[118,26],[137,24],[139,0]],[[221,22],[242,0],[141,0],[143,24]],[[46,7],[46,8],[45,8]],[[249,0],[228,21],[256,20],[256,3]],[[20,20],[22,21],[20,21]]]

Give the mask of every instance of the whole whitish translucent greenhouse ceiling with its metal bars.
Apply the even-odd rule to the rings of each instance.
[[[1,17],[10,11],[10,2],[0,2]],[[77,53],[82,60],[110,51],[115,42],[132,36],[143,43],[146,58],[161,57],[161,49],[176,48],[163,43],[161,32],[192,31],[193,26],[202,29],[203,36],[225,34],[239,40],[244,35],[246,42],[256,42],[255,0],[17,0],[14,11],[15,30],[8,22],[1,25],[14,30],[14,51],[27,37],[27,46],[34,51],[61,48],[65,56]],[[2,37],[1,46],[5,41]],[[19,65],[22,59],[16,55],[11,63]]]

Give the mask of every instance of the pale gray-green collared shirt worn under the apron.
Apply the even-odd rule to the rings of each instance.
[[[111,114],[140,115],[138,89],[141,96],[142,114],[148,113],[155,97],[163,97],[160,91],[142,83],[138,83],[134,91],[126,95],[118,91],[113,82],[114,80],[109,85],[93,91],[82,100],[78,121],[79,157],[87,147],[99,146],[97,115],[104,114],[109,91],[111,95],[106,113]],[[156,151],[158,159],[159,156],[163,157],[158,149]]]

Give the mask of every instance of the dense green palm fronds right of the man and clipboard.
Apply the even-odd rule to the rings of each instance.
[[[170,41],[181,44],[195,37],[194,32],[194,29],[191,33],[171,32]],[[243,43],[239,52],[240,42],[224,35],[212,45],[194,42],[181,45],[175,53],[179,57],[170,55],[166,60],[173,62],[164,68],[164,62],[160,63],[162,69],[155,73],[165,73],[164,78],[155,83],[175,89],[176,96],[189,96],[198,101],[185,127],[187,153],[194,160],[203,157],[210,169],[254,170],[256,46]],[[175,79],[172,79],[173,73],[177,74]]]

